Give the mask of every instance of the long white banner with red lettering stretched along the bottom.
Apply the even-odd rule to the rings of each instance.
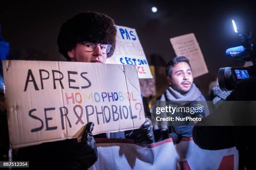
[[[202,150],[192,140],[138,145],[128,139],[95,139],[98,160],[89,170],[238,170],[238,150]]]

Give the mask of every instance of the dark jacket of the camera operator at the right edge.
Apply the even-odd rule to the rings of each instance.
[[[241,80],[236,89],[226,98],[230,101],[255,101],[256,77]],[[255,111],[254,111],[255,112]],[[228,113],[227,113],[228,114]],[[241,114],[246,114],[241,112]],[[193,140],[202,149],[219,150],[235,147],[239,152],[239,169],[256,169],[256,126],[200,126],[208,121],[221,121],[218,110],[202,118],[193,128]]]

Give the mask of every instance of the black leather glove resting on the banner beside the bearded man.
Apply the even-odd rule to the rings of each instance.
[[[136,130],[128,131],[125,134],[125,138],[133,139],[136,143],[151,144],[154,143],[154,133],[151,127],[151,122],[146,120],[140,128]],[[126,132],[127,133],[127,132]]]

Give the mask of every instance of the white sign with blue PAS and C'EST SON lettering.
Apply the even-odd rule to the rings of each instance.
[[[133,28],[117,25],[115,52],[107,59],[110,64],[136,65],[139,78],[152,78],[146,55]]]

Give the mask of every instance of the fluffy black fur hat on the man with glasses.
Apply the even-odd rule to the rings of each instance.
[[[107,15],[95,12],[79,13],[67,20],[59,31],[57,44],[59,52],[70,60],[67,52],[79,42],[110,44],[111,57],[115,50],[117,28]]]

